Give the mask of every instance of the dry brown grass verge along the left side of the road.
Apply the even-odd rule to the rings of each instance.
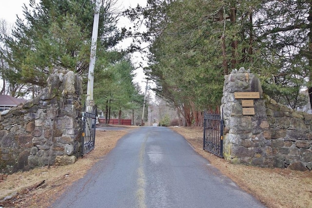
[[[95,149],[68,166],[37,168],[0,177],[0,207],[48,207],[66,187],[82,178],[128,131],[97,131]],[[1,178],[3,178],[1,180]],[[9,196],[9,197],[8,197]],[[6,200],[2,200],[7,197]],[[2,200],[2,201],[1,201]]]

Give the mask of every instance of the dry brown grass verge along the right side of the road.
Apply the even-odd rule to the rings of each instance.
[[[233,165],[202,148],[202,128],[172,128],[238,186],[268,208],[312,208],[312,172]]]

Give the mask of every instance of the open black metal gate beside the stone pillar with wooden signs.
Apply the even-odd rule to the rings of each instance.
[[[204,113],[204,150],[223,157],[223,120],[219,114]]]

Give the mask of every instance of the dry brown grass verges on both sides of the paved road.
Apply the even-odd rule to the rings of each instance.
[[[312,172],[266,169],[232,165],[202,150],[201,128],[172,128],[183,135],[195,151],[230,177],[242,189],[253,194],[268,208],[311,208]],[[111,151],[117,140],[128,131],[97,131],[96,148],[75,164],[46,167],[0,177],[0,207],[48,207],[66,187],[82,178],[103,155]]]

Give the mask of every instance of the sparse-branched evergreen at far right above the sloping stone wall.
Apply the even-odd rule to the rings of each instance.
[[[259,74],[264,92],[293,109],[307,104],[308,97],[300,92],[311,90],[311,1],[271,0],[257,14],[254,28],[263,47]]]

